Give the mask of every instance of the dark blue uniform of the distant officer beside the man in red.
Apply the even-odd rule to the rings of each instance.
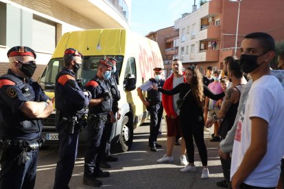
[[[156,79],[149,79],[156,86],[163,88],[165,80],[161,79],[156,81]],[[150,102],[147,110],[150,113],[150,136],[149,136],[149,147],[156,148],[158,129],[161,125],[161,119],[163,116],[163,105],[162,105],[162,93],[158,90],[148,90],[147,91],[147,101]]]

